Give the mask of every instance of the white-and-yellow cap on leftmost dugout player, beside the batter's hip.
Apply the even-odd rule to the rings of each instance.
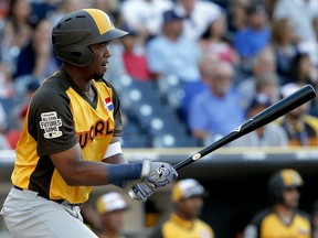
[[[98,214],[105,214],[114,210],[127,209],[128,205],[123,196],[117,192],[110,192],[102,195],[96,201],[96,209]]]

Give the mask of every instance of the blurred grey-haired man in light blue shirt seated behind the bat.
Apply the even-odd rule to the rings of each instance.
[[[206,61],[209,58],[206,57]],[[233,88],[233,67],[226,62],[202,68],[206,89],[198,93],[189,105],[189,129],[204,144],[211,144],[244,121],[244,110]]]

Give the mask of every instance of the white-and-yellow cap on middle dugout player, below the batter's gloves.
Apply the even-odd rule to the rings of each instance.
[[[193,178],[180,180],[172,187],[172,202],[187,199],[192,196],[206,195],[204,187]]]

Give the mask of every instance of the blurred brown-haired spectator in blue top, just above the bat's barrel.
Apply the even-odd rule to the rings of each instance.
[[[298,53],[296,34],[290,19],[282,18],[273,21],[272,45],[276,57],[276,72],[284,84],[289,77],[292,60]]]

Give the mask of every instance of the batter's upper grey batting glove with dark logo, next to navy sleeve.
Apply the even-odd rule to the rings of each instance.
[[[177,177],[177,171],[168,163],[151,162],[149,159],[142,162],[141,178],[153,184],[155,187],[166,186]]]

